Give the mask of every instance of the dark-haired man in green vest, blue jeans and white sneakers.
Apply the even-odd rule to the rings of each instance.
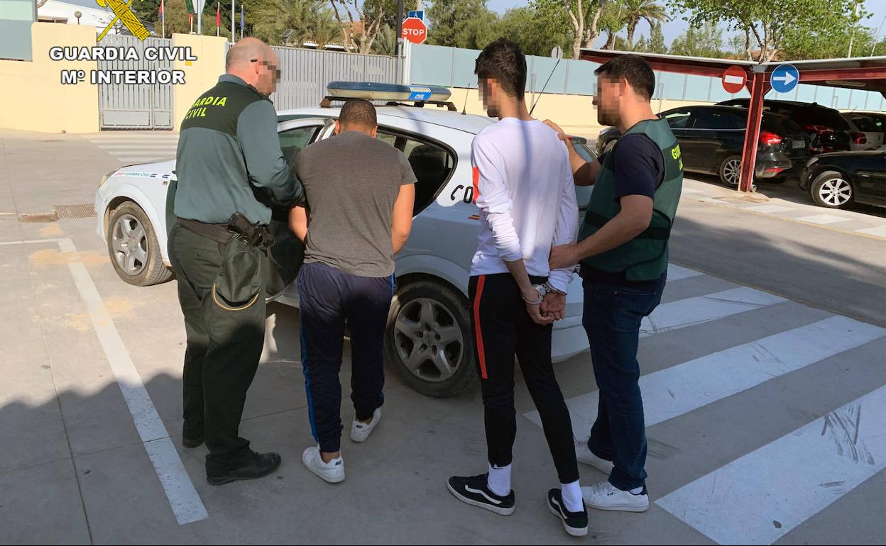
[[[637,346],[641,320],[661,302],[683,162],[667,120],[658,119],[649,105],[656,83],[649,64],[626,55],[595,73],[597,118],[601,125],[618,127],[623,136],[599,161],[586,163],[561,131],[575,183],[594,184],[594,193],[579,243],[555,248],[551,265],[581,263],[584,326],[600,388],[590,438],[576,450],[579,461],[610,478],[582,488],[585,504],[646,511],[646,425]]]

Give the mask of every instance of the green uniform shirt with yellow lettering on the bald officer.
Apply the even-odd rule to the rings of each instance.
[[[234,212],[268,224],[271,205],[303,202],[286,164],[274,104],[256,88],[224,74],[182,122],[175,153],[175,216],[223,224]]]

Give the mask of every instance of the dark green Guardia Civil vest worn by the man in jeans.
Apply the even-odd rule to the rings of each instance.
[[[649,137],[661,150],[664,158],[662,183],[656,190],[652,221],[640,235],[621,246],[582,260],[581,265],[607,273],[625,273],[627,281],[653,281],[667,269],[668,239],[671,236],[673,217],[680,202],[683,187],[683,160],[680,146],[664,119],[647,119],[631,127],[625,135],[641,134]],[[619,145],[621,141],[616,143]],[[610,219],[621,211],[615,193],[615,149],[603,159],[602,170],[597,175],[594,192],[587,204],[585,221],[579,233],[579,241],[594,235]]]

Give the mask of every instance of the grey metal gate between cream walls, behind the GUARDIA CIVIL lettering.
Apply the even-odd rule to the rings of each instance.
[[[98,61],[98,70],[172,70],[171,60],[149,61],[146,47],[171,47],[169,38],[106,35],[103,46],[133,47],[138,60]],[[172,84],[100,83],[98,85],[98,116],[103,129],[171,129]]]

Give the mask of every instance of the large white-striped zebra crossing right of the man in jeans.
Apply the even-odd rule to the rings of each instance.
[[[692,293],[688,283],[705,278],[709,286],[727,284],[672,265],[665,296],[669,291],[672,295]],[[710,448],[679,445],[681,440],[694,437],[691,427],[695,425],[690,423],[697,423],[693,418],[696,413],[715,406],[718,411],[730,411],[730,404],[731,411],[745,411],[742,408],[746,406],[740,404],[773,392],[768,385],[776,383],[781,383],[776,392],[787,390],[797,396],[804,389],[785,389],[783,385],[801,381],[801,375],[808,379],[808,373],[822,370],[822,363],[837,359],[847,372],[844,377],[857,373],[859,377],[876,377],[876,382],[864,382],[860,387],[863,392],[854,386],[852,396],[863,396],[810,413],[802,427],[780,431],[788,434],[774,440],[766,427],[745,423],[747,429],[735,434],[758,434],[760,442],[739,442],[753,447],[727,452],[727,464],[703,468],[703,475],[677,472],[676,478],[664,478],[664,490],[657,491],[657,507],[720,544],[771,544],[886,468],[886,329],[742,286],[664,300],[643,322],[641,352],[644,343],[684,350],[691,344],[719,345],[707,354],[689,350],[692,358],[682,361],[662,355],[662,360],[672,360],[664,367],[649,362],[655,360],[650,355],[657,353],[647,353],[645,358],[641,355],[641,373],[645,374],[640,387],[647,427],[665,424],[668,431],[682,430],[683,423],[690,427],[686,434],[672,439],[677,445],[669,449],[697,454]],[[752,337],[731,344],[728,329],[742,330],[742,335],[750,332]],[[723,339],[711,343],[711,332],[718,331],[724,332]],[[699,342],[699,335],[706,342]],[[843,388],[830,377],[820,381],[829,381],[827,387],[832,390]],[[577,439],[587,438],[598,400],[595,390],[566,401]],[[799,406],[809,400],[793,402]],[[538,411],[529,411],[525,417],[541,426]],[[658,435],[657,440],[667,438]],[[650,440],[650,458],[655,457],[653,443]],[[650,480],[655,479],[650,471]],[[882,506],[871,506],[870,510],[872,517],[882,518]]]

